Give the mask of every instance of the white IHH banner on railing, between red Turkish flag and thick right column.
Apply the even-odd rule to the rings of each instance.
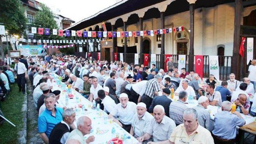
[[[218,56],[209,56],[209,69],[210,74],[213,74],[214,77],[219,81],[219,59]]]

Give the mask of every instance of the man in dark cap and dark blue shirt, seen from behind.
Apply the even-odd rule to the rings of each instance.
[[[158,96],[153,99],[148,112],[153,113],[153,109],[156,105],[162,105],[163,108],[165,108],[166,116],[169,117],[169,106],[172,100],[169,99],[168,96],[170,95],[171,91],[168,88],[164,88],[162,93],[162,96]]]

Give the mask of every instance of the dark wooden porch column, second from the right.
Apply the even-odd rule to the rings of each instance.
[[[189,55],[188,55],[188,70],[194,70],[194,14],[195,14],[195,3],[189,4]]]

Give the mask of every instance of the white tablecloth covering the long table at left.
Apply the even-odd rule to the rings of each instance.
[[[66,92],[63,92],[62,88],[59,87],[56,84],[56,80],[53,80],[53,91],[54,90],[60,90],[60,98],[58,100],[58,102],[66,105],[66,99],[65,99],[65,95]],[[73,99],[69,99],[68,101],[68,106],[66,106],[67,108],[75,108],[75,106],[78,106],[78,104],[83,104],[85,106],[85,109],[87,109],[87,111],[84,111],[84,113],[82,112],[82,109],[79,109],[79,112],[76,112],[76,119],[78,119],[81,116],[87,116],[91,119],[92,121],[92,127],[93,127],[93,135],[95,136],[95,141],[91,142],[91,144],[106,144],[107,141],[109,141],[112,136],[111,134],[111,130],[114,127],[116,133],[119,133],[119,135],[124,135],[126,134],[127,136],[131,137],[131,140],[133,142],[133,144],[137,144],[139,143],[132,135],[130,135],[128,132],[126,132],[122,127],[120,127],[118,124],[116,124],[115,122],[113,122],[112,124],[110,124],[110,120],[108,119],[107,123],[104,124],[104,116],[107,116],[107,114],[105,112],[103,112],[102,110],[92,110],[90,107],[93,106],[93,104],[88,101],[86,98],[84,98],[79,92],[75,91],[74,89],[72,89],[72,94],[74,95]],[[79,103],[76,103],[76,97],[79,98]],[[76,121],[74,121],[74,125],[76,126]],[[102,133],[102,134],[99,134]],[[88,136],[90,136],[90,134],[85,135],[86,138],[88,138]]]

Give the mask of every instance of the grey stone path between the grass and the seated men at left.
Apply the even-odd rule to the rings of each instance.
[[[43,144],[43,140],[40,138],[37,128],[38,112],[34,106],[33,101],[33,86],[30,81],[27,81],[27,144]]]

